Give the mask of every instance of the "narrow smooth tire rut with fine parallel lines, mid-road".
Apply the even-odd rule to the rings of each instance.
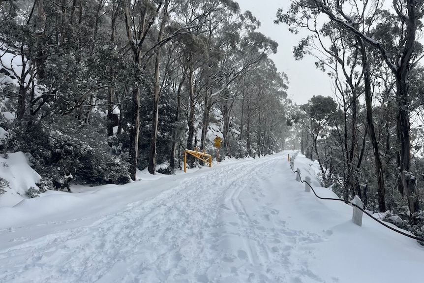
[[[256,212],[244,204],[250,196],[252,207],[258,207],[262,193],[263,179],[260,176],[267,170],[273,170],[270,166],[280,159],[270,158],[265,162],[256,163],[255,168],[248,170],[249,174],[243,178],[232,180],[229,188],[235,188],[228,192],[224,203],[228,208],[220,216],[226,231],[218,231],[221,237],[221,250],[217,257],[221,256],[224,262],[228,262],[227,270],[218,264],[218,271],[222,282],[281,282],[284,276],[278,276],[268,267],[269,262],[274,260],[270,256],[270,249],[264,245],[263,240],[270,231],[260,224]],[[263,219],[259,219],[262,220]],[[220,253],[220,254],[219,254]],[[215,279],[217,280],[217,279]],[[215,282],[212,280],[212,282]]]

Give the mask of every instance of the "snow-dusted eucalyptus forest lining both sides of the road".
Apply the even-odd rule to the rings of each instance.
[[[216,136],[219,158],[297,149],[324,187],[423,236],[423,1],[284,5],[276,27],[307,35],[280,56],[333,82],[304,105],[235,1],[0,0],[0,154],[27,155],[37,196],[174,174],[185,149],[216,158]]]

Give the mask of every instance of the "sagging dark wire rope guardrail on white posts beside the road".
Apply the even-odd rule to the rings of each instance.
[[[296,171],[294,170],[294,160],[296,159],[297,155],[298,155],[298,153],[296,152],[292,157],[290,157],[290,159],[289,159],[290,160],[290,169],[294,173],[296,173],[296,181],[301,182],[301,183],[305,183],[305,191],[310,192],[310,190],[312,189],[312,192],[319,199],[342,201],[342,202],[344,202],[346,204],[352,205],[354,207],[352,221],[355,224],[359,225],[359,226],[362,226],[362,215],[364,213],[367,216],[369,216],[371,219],[373,219],[373,220],[377,221],[378,223],[380,223],[381,225],[383,225],[383,226],[385,226],[385,227],[393,230],[394,232],[397,232],[397,233],[399,233],[401,235],[404,235],[406,237],[409,237],[411,239],[414,239],[414,240],[417,240],[417,241],[420,241],[420,242],[423,242],[424,243],[424,239],[423,238],[412,236],[412,235],[409,235],[409,234],[404,233],[402,231],[399,231],[399,230],[397,230],[397,229],[395,229],[395,228],[387,225],[383,221],[381,221],[381,220],[373,217],[370,213],[368,213],[367,211],[365,211],[363,209],[363,203],[362,203],[360,197],[357,196],[357,195],[355,195],[355,198],[352,201],[348,201],[348,200],[344,200],[344,199],[340,199],[340,198],[321,197],[321,196],[317,195],[317,193],[315,192],[315,190],[310,185],[311,184],[310,177],[309,176],[306,176],[305,177],[305,180],[302,180],[302,178],[301,178],[301,170],[299,168],[297,168]]]

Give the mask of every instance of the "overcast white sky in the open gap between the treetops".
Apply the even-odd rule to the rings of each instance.
[[[298,105],[307,103],[313,95],[333,96],[330,78],[316,69],[311,56],[302,61],[295,61],[293,47],[297,45],[301,36],[288,31],[285,24],[275,25],[278,8],[284,10],[290,5],[290,0],[236,0],[242,11],[250,10],[261,22],[260,32],[271,37],[278,43],[278,52],[271,56],[278,71],[289,77],[289,97]]]

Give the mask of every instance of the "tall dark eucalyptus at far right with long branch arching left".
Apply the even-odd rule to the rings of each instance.
[[[400,143],[399,176],[407,195],[410,212],[414,213],[419,209],[419,203],[414,178],[409,173],[411,140],[408,82],[413,61],[419,57],[421,52],[421,48],[417,48],[419,45],[416,43],[416,32],[421,26],[419,19],[423,15],[423,2],[394,0],[390,11],[385,10],[380,1],[362,1],[361,3],[353,1],[352,3],[340,0],[295,0],[289,14],[284,15],[283,11],[279,10],[278,17],[280,20],[284,18],[288,20],[288,17],[306,20],[308,17],[318,15],[328,16],[334,25],[356,37],[357,42],[361,45],[365,67],[370,64],[366,54],[371,50],[378,50],[380,58],[390,68],[396,81],[397,136]],[[352,9],[352,6],[360,7],[360,9]],[[376,16],[379,16],[383,22],[376,22]],[[391,26],[395,28],[396,32],[389,38],[381,40],[378,38],[379,34],[373,32],[376,31],[373,29],[374,26],[376,28]],[[387,29],[385,30],[387,31]],[[367,72],[364,76],[365,83],[367,83],[366,80]],[[365,99],[365,101],[370,103],[370,99]],[[373,138],[371,137],[371,139]],[[382,172],[377,176],[381,175]]]

